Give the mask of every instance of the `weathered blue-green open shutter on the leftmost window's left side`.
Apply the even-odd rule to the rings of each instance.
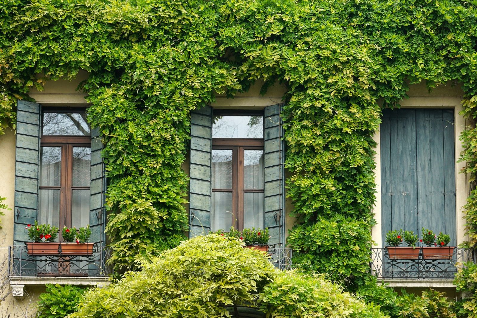
[[[38,164],[40,160],[41,106],[17,101],[17,142],[15,155],[15,245],[29,241],[25,225],[38,217]]]

